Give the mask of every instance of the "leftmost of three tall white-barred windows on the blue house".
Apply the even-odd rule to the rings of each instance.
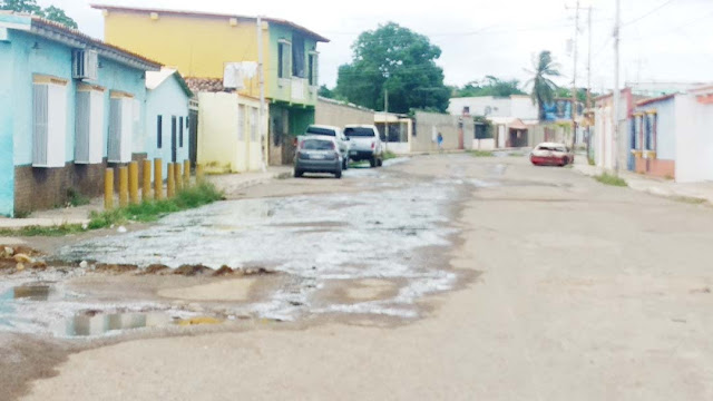
[[[65,167],[67,81],[35,77],[32,81],[32,166]]]

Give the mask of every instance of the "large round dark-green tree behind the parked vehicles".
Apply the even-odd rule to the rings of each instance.
[[[436,65],[441,49],[426,36],[389,22],[362,32],[352,51],[352,62],[339,68],[338,96],[383,110],[388,90],[390,111],[448,108],[450,90]]]

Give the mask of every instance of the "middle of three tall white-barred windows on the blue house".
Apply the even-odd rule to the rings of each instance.
[[[75,163],[99,164],[104,158],[104,88],[77,88],[75,113]]]

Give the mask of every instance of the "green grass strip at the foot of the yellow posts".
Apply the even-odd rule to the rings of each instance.
[[[167,214],[187,211],[223,199],[213,184],[204,183],[179,190],[175,197],[162,200],[147,200],[113,211],[94,212],[90,215],[89,229],[99,229],[127,222],[150,223]]]

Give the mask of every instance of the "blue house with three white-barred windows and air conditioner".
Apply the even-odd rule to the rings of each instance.
[[[98,195],[148,157],[146,72],[160,65],[37,17],[0,12],[0,215]]]

